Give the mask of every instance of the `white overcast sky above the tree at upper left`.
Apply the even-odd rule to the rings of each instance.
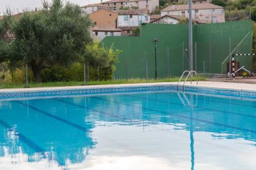
[[[51,1],[51,0],[47,0]],[[65,2],[66,0],[63,0]],[[67,0],[78,5],[87,5],[89,3],[98,3],[100,0]],[[105,0],[106,1],[106,0]],[[35,9],[36,7],[42,6],[42,0],[0,0],[0,15],[6,11],[6,7],[10,7],[11,10],[16,12],[21,12],[23,8]]]

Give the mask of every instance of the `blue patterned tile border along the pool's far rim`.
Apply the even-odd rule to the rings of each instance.
[[[111,87],[111,88],[88,88],[75,90],[58,90],[58,91],[34,91],[34,92],[2,92],[0,99],[18,99],[23,97],[47,97],[47,96],[71,96],[71,95],[91,95],[91,94],[112,94],[119,92],[143,92],[143,91],[176,91],[175,85],[159,86],[135,86],[135,87]],[[179,91],[199,92],[204,94],[216,94],[225,96],[251,97],[256,99],[256,92],[221,90],[214,88],[179,86]]]

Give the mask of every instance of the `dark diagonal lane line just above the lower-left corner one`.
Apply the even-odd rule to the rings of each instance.
[[[79,129],[79,130],[86,131],[86,132],[92,132],[91,130],[88,130],[87,128],[84,128],[84,127],[82,127],[82,126],[80,126],[80,125],[77,125],[77,124],[75,124],[75,123],[73,123],[73,122],[70,122],[70,121],[68,121],[68,120],[65,120],[64,118],[60,118],[60,117],[57,117],[57,116],[55,116],[55,115],[53,115],[53,114],[44,112],[44,111],[42,111],[42,110],[40,110],[40,109],[38,109],[38,108],[32,107],[31,105],[24,104],[24,103],[22,103],[22,102],[20,102],[20,101],[18,101],[18,100],[16,100],[15,102],[16,102],[16,103],[19,103],[19,104],[21,104],[21,105],[24,105],[24,106],[26,106],[26,107],[28,107],[28,108],[30,108],[30,109],[33,109],[33,110],[36,111],[36,112],[42,113],[42,114],[44,114],[44,115],[46,115],[46,116],[48,116],[48,117],[54,118],[54,119],[57,120],[57,121],[63,122],[64,124],[73,126],[74,128],[77,128],[77,129]]]

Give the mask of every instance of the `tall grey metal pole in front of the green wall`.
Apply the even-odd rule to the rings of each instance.
[[[188,53],[189,53],[189,71],[193,70],[193,35],[192,35],[192,0],[189,0],[188,10]]]

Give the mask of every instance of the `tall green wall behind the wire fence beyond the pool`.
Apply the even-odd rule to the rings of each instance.
[[[250,20],[193,25],[193,68],[199,73],[226,74],[229,52],[251,53]],[[156,48],[158,77],[181,75],[188,69],[188,26],[146,24],[141,36],[106,37],[106,47],[122,50],[115,64],[115,78],[148,78],[155,76],[155,49],[152,39],[159,40]],[[237,57],[240,66],[252,68],[252,57]]]

